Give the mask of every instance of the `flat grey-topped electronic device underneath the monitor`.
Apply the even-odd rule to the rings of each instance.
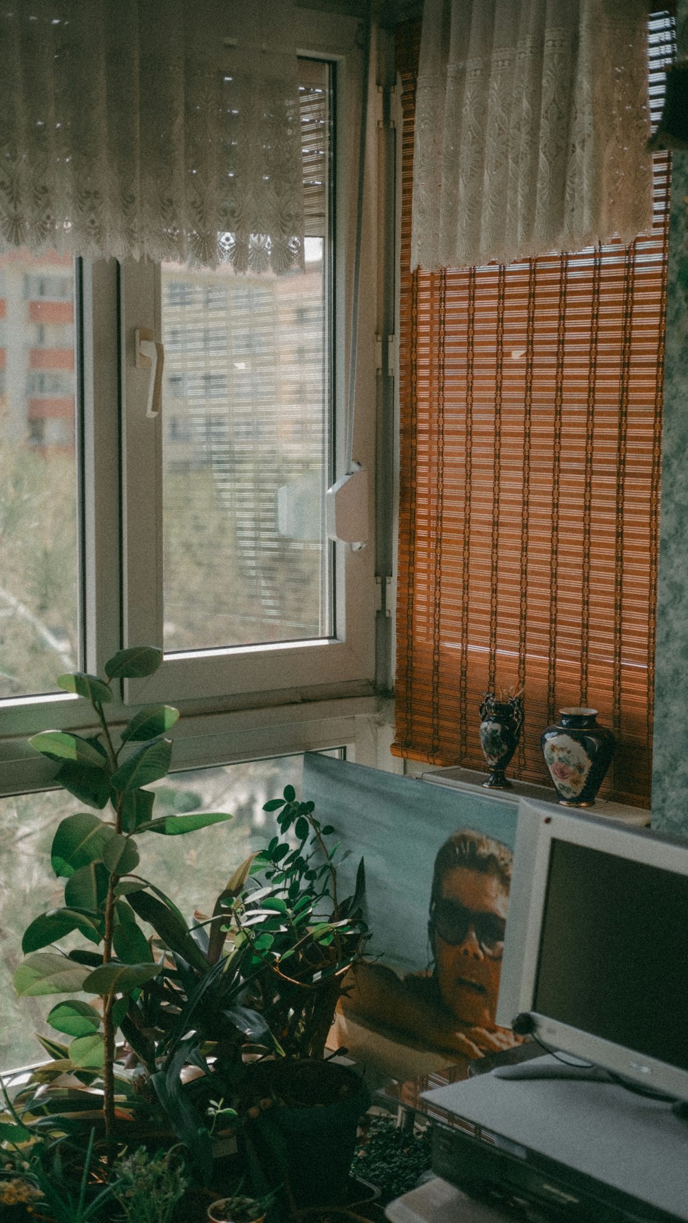
[[[555,1068],[546,1057],[522,1064]],[[688,1221],[688,1123],[666,1101],[510,1068],[424,1092],[433,1170],[470,1196],[576,1223]],[[556,1071],[555,1071],[556,1075]]]

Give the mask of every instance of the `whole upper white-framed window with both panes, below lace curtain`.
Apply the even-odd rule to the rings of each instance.
[[[17,526],[11,556],[0,533],[0,794],[50,784],[28,735],[88,729],[89,711],[55,692],[55,678],[101,671],[137,642],[159,643],[165,662],[150,681],[123,686],[121,714],[158,698],[181,707],[175,769],[351,745],[357,718],[375,712],[374,543],[352,553],[321,530],[345,450],[358,22],[295,20],[309,50],[304,273],[282,283],[147,260],[0,260],[0,410],[12,422],[0,508]],[[371,245],[374,209],[367,215]],[[369,356],[374,307],[369,276]],[[139,328],[166,344],[158,417],[147,416],[148,371],[136,363]],[[371,361],[359,379],[367,411],[354,457],[373,472]],[[5,478],[15,455],[21,484]]]

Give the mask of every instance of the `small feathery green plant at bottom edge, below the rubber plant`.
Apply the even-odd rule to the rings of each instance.
[[[149,1155],[139,1147],[115,1164],[114,1195],[126,1223],[169,1223],[188,1189],[175,1148]]]

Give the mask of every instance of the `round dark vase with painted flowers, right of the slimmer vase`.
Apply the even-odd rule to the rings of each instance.
[[[565,807],[591,807],[613,756],[616,740],[599,726],[596,709],[560,709],[561,722],[543,734],[543,756],[558,801]]]

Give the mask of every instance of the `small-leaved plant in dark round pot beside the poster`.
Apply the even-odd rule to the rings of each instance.
[[[251,948],[248,1002],[282,1055],[247,1068],[240,1110],[268,1184],[284,1183],[292,1206],[336,1203],[370,1103],[357,1074],[324,1060],[343,978],[369,938],[363,860],[354,892],[341,896],[335,829],[317,819],[314,804],[286,786],[264,810],[276,813],[279,834],[252,863],[230,928],[235,945]]]

